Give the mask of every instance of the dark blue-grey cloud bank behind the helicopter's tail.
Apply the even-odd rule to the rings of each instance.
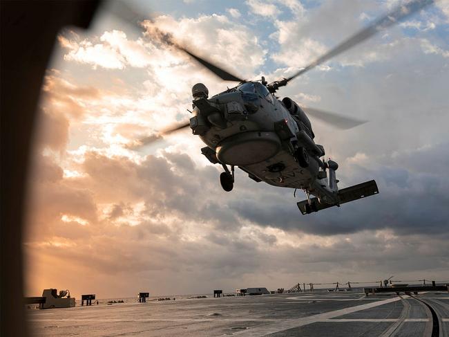
[[[279,192],[270,202],[247,199],[233,201],[229,205],[237,214],[260,226],[278,227],[283,230],[302,230],[315,235],[356,233],[360,230],[392,230],[398,235],[447,233],[449,202],[448,179],[441,180],[437,172],[429,172],[426,159],[441,154],[441,163],[446,160],[446,145],[430,147],[383,159],[383,165],[370,168],[374,158],[357,154],[341,165],[343,183],[351,185],[364,180],[376,179],[380,194],[370,199],[354,201],[341,208],[333,208],[316,216],[299,218],[298,210],[285,202],[286,193]],[[413,161],[412,158],[422,158]],[[435,161],[435,159],[433,159]],[[337,172],[339,174],[340,172]],[[347,177],[351,176],[350,179]],[[287,199],[288,200],[288,199]],[[372,210],[375,217],[369,217]]]

